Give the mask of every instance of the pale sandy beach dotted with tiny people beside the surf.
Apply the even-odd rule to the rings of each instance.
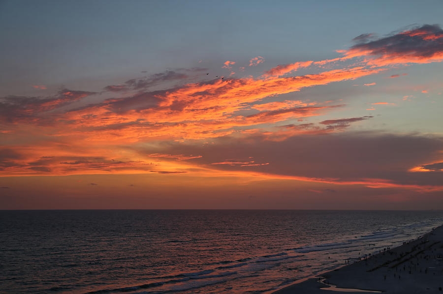
[[[274,294],[443,293],[443,226]]]

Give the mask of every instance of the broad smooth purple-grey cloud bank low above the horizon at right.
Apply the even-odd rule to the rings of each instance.
[[[272,141],[266,135],[225,136],[214,144],[164,143],[139,152],[196,154],[198,164],[222,170],[250,170],[277,175],[361,180],[386,179],[404,184],[441,185],[440,173],[408,170],[429,162],[443,149],[443,139],[416,134],[377,132],[297,135]],[[257,166],[211,164],[228,159],[266,163]],[[192,162],[189,162],[192,163]]]

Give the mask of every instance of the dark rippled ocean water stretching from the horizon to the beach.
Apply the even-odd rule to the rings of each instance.
[[[0,211],[0,293],[264,293],[443,212]]]

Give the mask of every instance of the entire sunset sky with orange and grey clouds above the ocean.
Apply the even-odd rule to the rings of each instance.
[[[443,2],[0,1],[0,209],[443,209]]]

